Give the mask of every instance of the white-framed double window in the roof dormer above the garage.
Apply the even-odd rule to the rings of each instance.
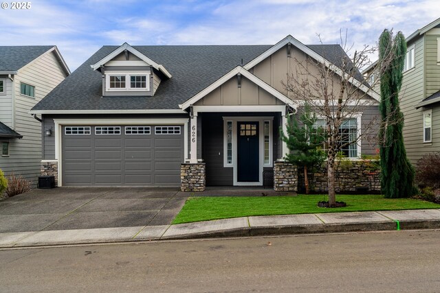
[[[150,73],[106,73],[107,91],[150,91]]]

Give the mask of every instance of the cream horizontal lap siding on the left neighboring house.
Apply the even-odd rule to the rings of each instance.
[[[36,183],[41,169],[41,123],[29,110],[67,76],[54,52],[43,54],[14,75],[14,130],[22,139],[10,139],[10,155],[2,157],[0,168],[5,174],[20,174]],[[35,86],[35,97],[21,95],[20,84]]]

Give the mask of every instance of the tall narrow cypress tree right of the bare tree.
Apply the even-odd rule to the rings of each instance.
[[[404,116],[399,108],[399,91],[403,78],[406,40],[401,32],[384,30],[379,38],[379,61],[382,115],[380,128],[380,167],[382,193],[386,198],[404,198],[414,194],[415,170],[406,157]]]

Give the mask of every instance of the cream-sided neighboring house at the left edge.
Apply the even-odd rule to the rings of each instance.
[[[30,109],[69,69],[55,46],[0,46],[0,169],[36,183],[41,169],[41,123]]]

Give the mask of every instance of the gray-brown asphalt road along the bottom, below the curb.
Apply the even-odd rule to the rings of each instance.
[[[0,292],[440,292],[440,231],[0,250]]]

